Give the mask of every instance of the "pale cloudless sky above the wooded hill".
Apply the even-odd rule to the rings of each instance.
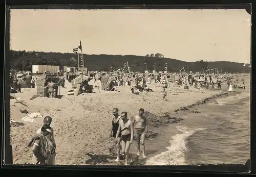
[[[245,10],[11,10],[10,48],[250,63]]]

